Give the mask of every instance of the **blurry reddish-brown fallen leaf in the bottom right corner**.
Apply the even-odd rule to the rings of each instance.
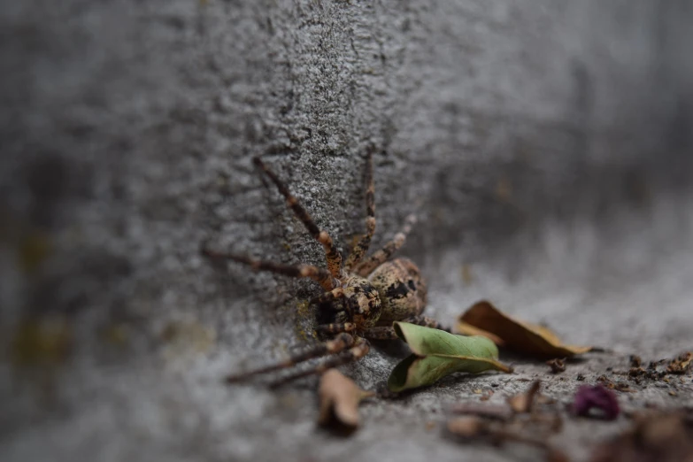
[[[642,416],[597,447],[591,462],[693,462],[693,422],[683,413]]]

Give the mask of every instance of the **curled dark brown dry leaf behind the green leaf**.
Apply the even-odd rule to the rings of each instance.
[[[459,317],[458,330],[485,335],[510,350],[541,358],[570,357],[592,350],[592,347],[564,345],[549,328],[515,320],[485,300]]]

